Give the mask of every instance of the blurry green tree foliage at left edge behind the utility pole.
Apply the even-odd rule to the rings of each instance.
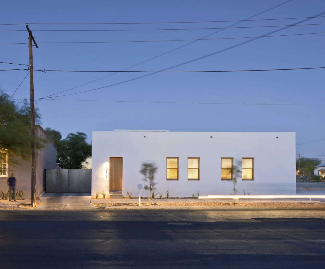
[[[35,110],[35,121],[39,123],[40,116]],[[36,149],[42,149],[44,139],[34,137]],[[0,150],[7,153],[8,163],[16,165],[17,157],[25,161],[31,159],[31,114],[29,106],[17,106],[9,101],[6,93],[0,94]]]

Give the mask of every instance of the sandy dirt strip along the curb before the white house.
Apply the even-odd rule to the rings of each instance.
[[[137,206],[138,203],[102,203],[94,204],[97,208],[116,207],[116,206]],[[155,206],[211,206],[211,207],[325,207],[325,202],[239,202],[234,205],[231,202],[202,202],[202,203],[141,203],[141,206],[155,207]]]

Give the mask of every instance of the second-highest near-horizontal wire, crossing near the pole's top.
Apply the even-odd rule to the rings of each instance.
[[[299,25],[264,25],[264,26],[243,26],[243,27],[213,27],[213,28],[172,28],[172,29],[36,29],[33,31],[51,32],[107,32],[107,31],[174,31],[174,30],[213,30],[213,29],[243,29],[243,28],[266,28],[284,26],[309,26],[324,25],[325,23],[299,24]],[[0,30],[0,32],[23,32],[25,30]]]

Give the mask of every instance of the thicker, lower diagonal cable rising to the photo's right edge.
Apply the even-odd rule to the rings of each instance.
[[[316,15],[315,17],[318,17],[318,16],[323,15],[323,14],[325,14],[325,12],[322,12],[322,13]],[[292,24],[292,26],[293,26],[293,25],[296,25],[296,24],[299,24],[299,23],[301,23],[301,22],[304,22],[304,21],[308,21],[308,20],[311,20],[311,19],[305,19],[305,20],[302,20],[302,21],[298,21],[298,22]],[[265,35],[262,35],[262,36],[271,35],[271,34],[273,34],[273,33],[279,32],[279,31],[284,30],[284,29],[289,28],[289,27],[291,27],[291,26],[285,26],[285,27],[282,27],[282,28],[280,28],[280,29],[277,29],[277,30],[271,31],[271,32],[269,32],[269,33],[266,33]],[[164,69],[162,69],[162,70],[160,70],[160,71],[158,71],[158,72],[149,73],[149,74],[146,74],[146,75],[143,75],[143,76],[140,76],[140,77],[136,77],[136,78],[132,78],[132,79],[127,79],[127,80],[124,80],[124,81],[121,81],[121,82],[113,83],[113,84],[110,84],[110,85],[107,85],[107,86],[103,86],[103,87],[99,87],[99,88],[95,88],[95,89],[92,89],[92,90],[87,90],[87,91],[82,91],[82,92],[75,92],[75,93],[70,93],[70,94],[64,94],[64,95],[59,95],[59,96],[54,96],[54,97],[62,97],[62,96],[67,96],[67,95],[73,95],[73,94],[83,93],[83,92],[91,92],[91,91],[95,91],[95,90],[99,90],[99,89],[103,89],[103,88],[107,88],[107,87],[111,87],[111,86],[119,85],[119,84],[122,84],[122,83],[125,83],[125,82],[133,81],[133,80],[136,80],[136,79],[139,79],[139,78],[144,78],[144,77],[147,77],[147,76],[150,76],[150,75],[153,75],[153,74],[156,74],[156,73],[162,72],[162,71],[166,71],[166,70],[168,70],[168,69],[172,69],[172,68],[175,68],[175,67],[178,67],[178,66],[184,65],[184,64],[188,64],[188,63],[192,63],[192,62],[195,62],[195,61],[198,61],[198,60],[204,59],[204,58],[206,58],[206,57],[210,57],[210,56],[212,56],[212,55],[218,54],[218,53],[223,52],[223,51],[226,51],[226,50],[230,50],[230,49],[236,48],[236,47],[238,47],[238,46],[244,45],[244,44],[246,44],[246,43],[249,43],[249,42],[254,41],[254,40],[256,40],[256,39],[259,39],[259,38],[260,38],[260,37],[255,37],[255,38],[252,38],[252,39],[249,39],[249,40],[243,41],[243,42],[241,42],[241,43],[239,43],[239,44],[236,44],[236,45],[233,45],[233,46],[227,47],[226,49],[218,50],[218,51],[216,51],[216,52],[213,52],[213,53],[210,53],[210,54],[207,54],[207,55],[201,56],[201,57],[199,57],[199,58],[196,58],[196,59],[193,59],[193,60],[187,61],[187,62],[182,63],[182,64],[176,64],[176,65],[174,65],[174,66],[171,66],[171,67],[168,67],[168,68],[164,68]],[[68,90],[66,90],[66,91],[68,91]],[[66,92],[66,91],[62,91],[62,92]],[[47,98],[47,97],[49,97],[49,96],[53,96],[53,95],[55,95],[55,94],[59,94],[59,93],[61,93],[61,92],[54,93],[54,94],[48,95],[48,96],[43,97],[43,98]]]

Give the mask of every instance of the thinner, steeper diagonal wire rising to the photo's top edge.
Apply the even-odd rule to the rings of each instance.
[[[282,6],[282,5],[286,4],[286,3],[289,3],[289,2],[291,2],[291,1],[292,1],[292,0],[287,0],[287,1],[285,1],[285,2],[283,2],[283,3],[281,3],[281,4],[279,4],[279,5],[276,5],[276,6],[274,6],[274,7],[268,8],[268,9],[262,11],[262,12],[259,12],[259,13],[255,14],[255,15],[251,16],[251,17],[248,17],[248,18],[246,18],[245,20],[242,20],[242,21],[238,21],[238,22],[236,22],[236,23],[233,23],[233,24],[229,25],[228,27],[232,27],[232,26],[235,26],[235,25],[237,25],[237,24],[239,24],[239,23],[241,23],[241,22],[243,22],[243,21],[250,20],[250,19],[252,19],[252,18],[254,18],[254,17],[258,16],[258,15],[261,15],[261,14],[263,14],[263,13],[269,11],[269,10],[272,10],[272,9],[274,9],[274,8],[276,8],[276,7],[280,7],[280,6]],[[225,28],[225,29],[227,29],[227,28]],[[149,61],[151,61],[151,60],[154,60],[154,59],[156,59],[156,58],[158,58],[158,57],[161,57],[161,56],[163,56],[163,55],[166,55],[166,54],[168,54],[168,53],[170,53],[170,52],[173,52],[173,51],[175,51],[175,50],[178,50],[178,49],[181,49],[181,48],[183,48],[183,47],[186,47],[186,46],[188,46],[188,45],[190,45],[190,44],[193,44],[193,43],[195,43],[195,42],[197,42],[197,41],[199,41],[199,40],[201,40],[201,39],[203,39],[203,38],[206,38],[206,37],[209,37],[209,36],[214,35],[214,34],[216,34],[216,33],[219,33],[219,32],[221,32],[221,31],[223,31],[223,30],[225,30],[225,29],[221,29],[221,30],[215,31],[215,32],[213,32],[213,33],[211,33],[211,34],[209,34],[209,35],[202,36],[201,38],[199,38],[199,39],[197,39],[197,40],[193,40],[193,41],[188,42],[188,43],[186,43],[186,44],[184,44],[184,45],[182,45],[182,46],[179,46],[179,47],[177,47],[177,48],[175,48],[175,49],[168,50],[168,51],[166,51],[166,52],[164,52],[164,53],[162,53],[162,54],[159,54],[159,55],[157,55],[157,56],[155,56],[155,57],[149,58],[148,60],[145,60],[145,61],[140,62],[140,63],[138,63],[138,64],[134,64],[134,65],[129,66],[129,67],[127,67],[127,68],[124,68],[122,71],[127,70],[127,69],[130,69],[130,68],[135,67],[135,66],[140,65],[140,64],[144,64],[144,63],[149,62]],[[162,70],[162,71],[164,71],[164,70]],[[62,92],[67,92],[67,91],[70,91],[70,90],[76,89],[76,88],[78,88],[78,87],[81,87],[81,86],[87,85],[87,84],[89,84],[89,83],[92,83],[92,82],[98,81],[98,80],[100,80],[100,79],[110,77],[110,76],[112,76],[112,75],[114,75],[114,74],[116,74],[116,73],[113,73],[113,74],[110,74],[110,75],[107,75],[107,76],[104,76],[104,77],[101,77],[101,78],[97,78],[97,79],[95,79],[95,80],[92,80],[92,81],[89,81],[89,82],[87,82],[87,83],[84,83],[84,84],[81,84],[81,85],[75,86],[75,87],[73,87],[73,88],[70,88],[70,89],[65,90],[65,91],[62,91]],[[61,92],[59,92],[59,93],[61,93]],[[52,95],[54,95],[54,94],[51,94],[51,95],[48,95],[48,96],[52,96]],[[48,96],[45,96],[45,97],[48,97]]]

